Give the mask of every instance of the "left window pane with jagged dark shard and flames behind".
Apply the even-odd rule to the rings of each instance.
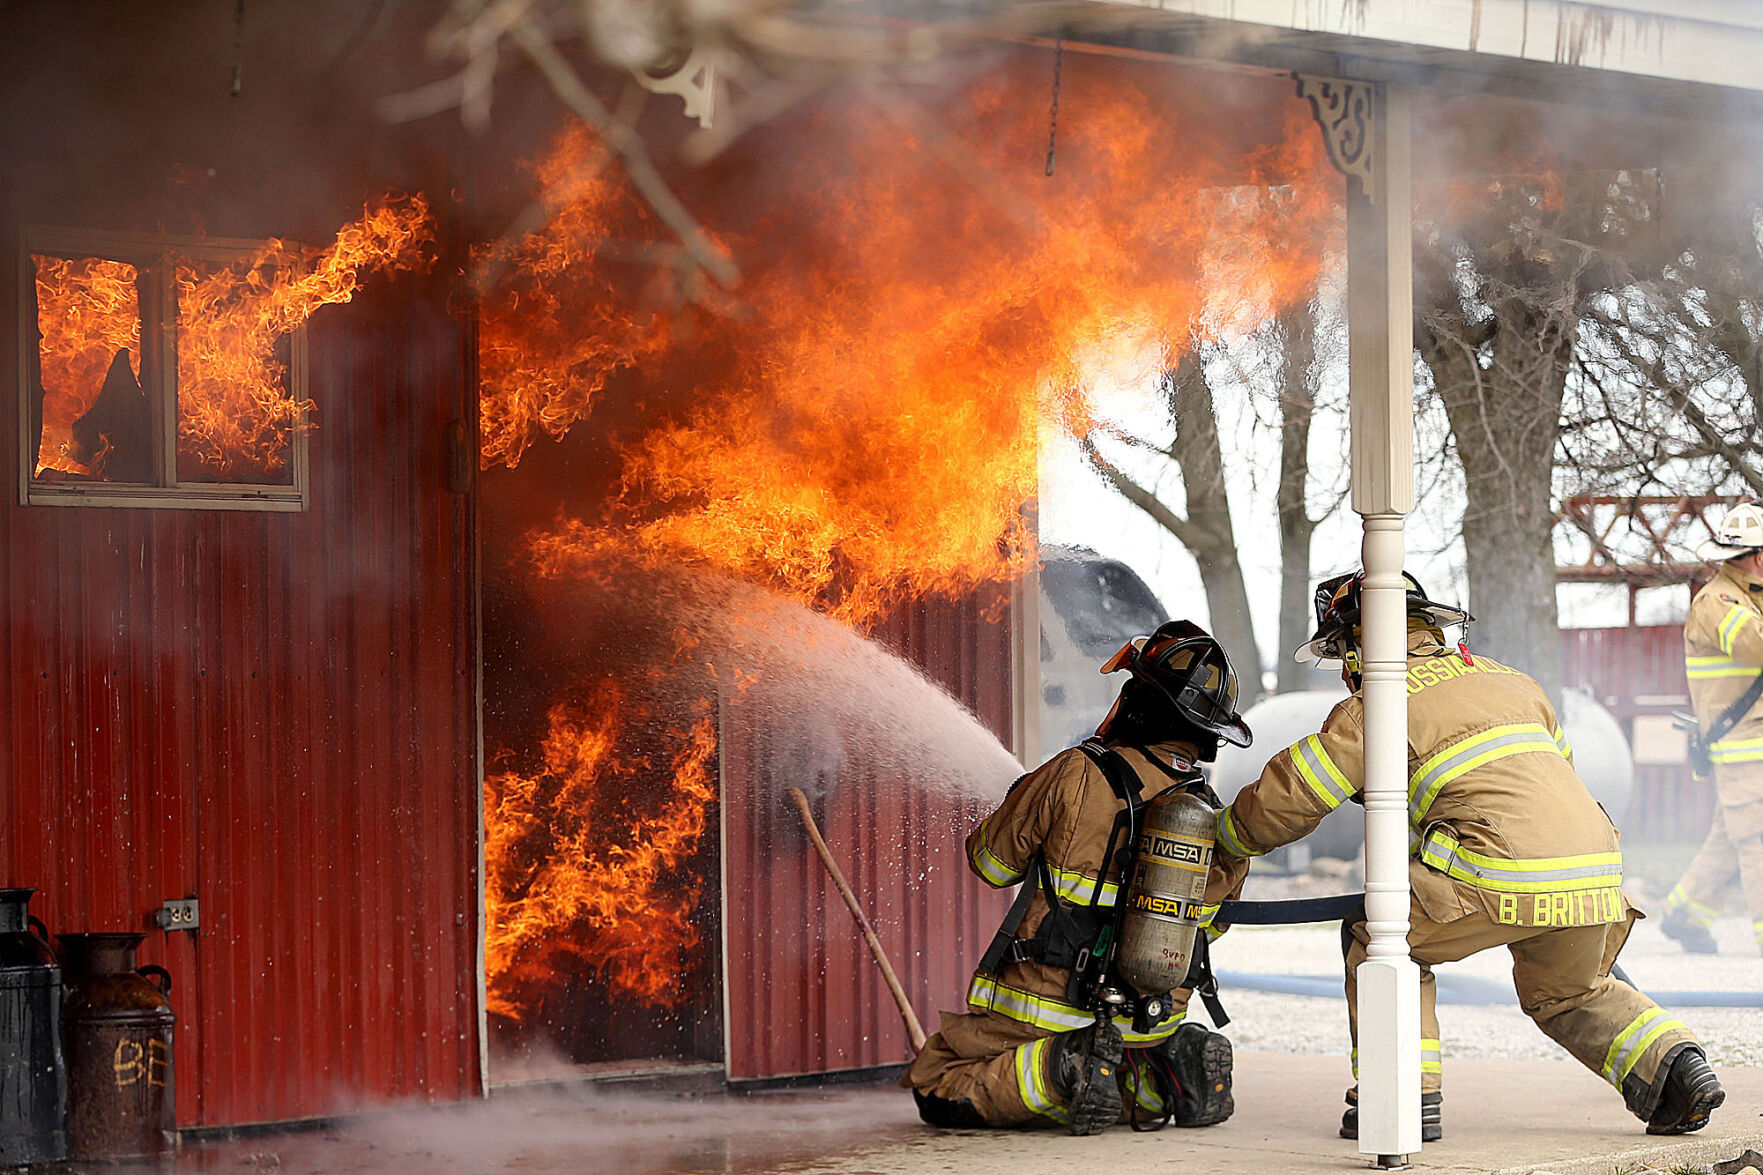
[[[125,261],[32,254],[39,482],[152,482],[153,413],[141,386],[141,273]]]

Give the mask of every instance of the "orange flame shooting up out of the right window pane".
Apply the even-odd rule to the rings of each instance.
[[[233,265],[176,263],[178,476],[275,478],[312,411],[287,393],[277,344],[319,307],[354,298],[367,273],[416,268],[432,236],[428,203],[411,196],[367,208],[307,265],[291,265],[279,240]]]

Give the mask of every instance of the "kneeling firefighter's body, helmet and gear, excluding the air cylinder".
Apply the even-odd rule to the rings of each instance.
[[[1171,621],[1137,637],[1102,672],[1120,669],[1132,676],[1095,737],[1019,778],[968,834],[973,872],[1024,891],[973,974],[970,1011],[943,1013],[941,1030],[901,1078],[931,1126],[1090,1134],[1141,1115],[1176,1126],[1231,1117],[1231,1041],[1185,1023],[1188,990],[1114,1018],[1075,1002],[1084,997],[1074,992],[1074,967],[1084,967],[1098,916],[1114,912],[1120,866],[1104,857],[1127,806],[1093,755],[1118,752],[1112,762],[1125,760],[1151,799],[1204,787],[1195,764],[1215,759],[1220,741],[1250,743],[1231,662],[1197,625]],[[1204,898],[1208,914],[1229,896],[1231,882],[1218,884]]]

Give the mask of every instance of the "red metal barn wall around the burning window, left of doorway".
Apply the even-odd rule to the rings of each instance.
[[[324,243],[388,187],[450,191],[444,155],[390,152],[340,97],[383,55],[319,85],[354,26],[326,12],[254,9],[238,99],[233,5],[9,7],[0,32],[0,884],[56,932],[201,902],[197,937],[141,951],[176,984],[182,1126],[480,1089],[457,265],[312,319],[305,512],[16,492],[19,226]]]

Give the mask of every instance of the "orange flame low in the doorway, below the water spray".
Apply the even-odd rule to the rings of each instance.
[[[564,956],[651,1007],[686,995],[702,889],[681,864],[698,850],[716,799],[716,732],[702,715],[670,734],[672,787],[658,810],[633,813],[628,797],[656,775],[629,753],[643,720],[642,707],[605,686],[587,706],[550,711],[538,771],[485,780],[490,1011],[529,1014]]]

